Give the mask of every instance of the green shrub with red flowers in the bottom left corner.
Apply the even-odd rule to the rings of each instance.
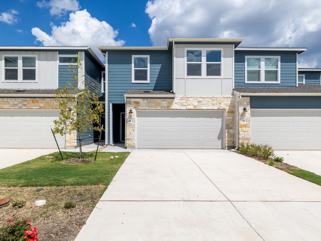
[[[0,241],[37,241],[38,229],[32,227],[30,220],[13,218],[0,228]]]

